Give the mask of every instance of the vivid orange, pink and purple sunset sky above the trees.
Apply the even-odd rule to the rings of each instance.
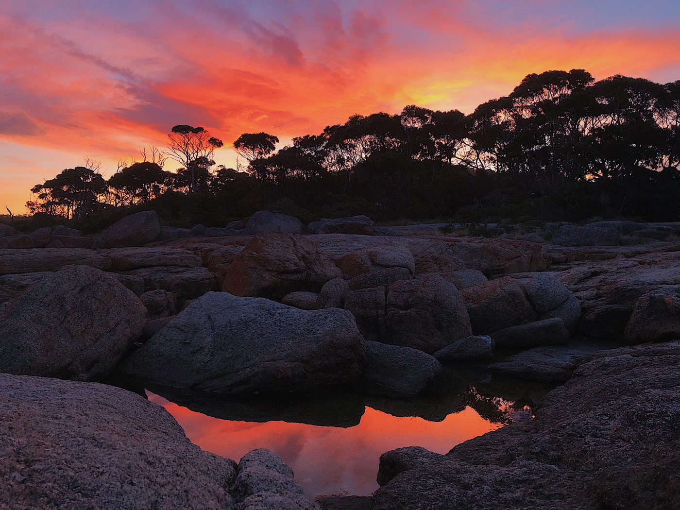
[[[241,133],[469,113],[574,68],[680,80],[680,2],[0,0],[0,209],[84,157],[109,177],[175,124],[209,129],[233,166]]]

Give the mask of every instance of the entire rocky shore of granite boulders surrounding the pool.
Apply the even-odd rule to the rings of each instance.
[[[3,228],[0,507],[673,508],[680,225],[451,230],[265,211],[191,229],[143,212],[93,237]],[[386,452],[373,496],[316,501],[271,452],[207,454],[101,384],[417,402],[477,370],[562,386],[449,454]]]

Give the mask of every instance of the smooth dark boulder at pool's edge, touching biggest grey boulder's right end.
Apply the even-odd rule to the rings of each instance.
[[[362,377],[369,383],[371,392],[386,396],[415,396],[430,386],[439,372],[439,361],[422,351],[366,342],[366,366]]]

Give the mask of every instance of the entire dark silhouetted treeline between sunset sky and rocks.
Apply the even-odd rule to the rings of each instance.
[[[108,180],[96,165],[66,169],[27,207],[78,221],[154,208],[170,222],[220,225],[258,209],[305,220],[680,219],[680,81],[547,71],[469,115],[409,105],[278,142],[241,135],[228,169],[214,163],[220,139],[175,126],[167,150],[144,151]],[[168,171],[169,160],[180,167]]]

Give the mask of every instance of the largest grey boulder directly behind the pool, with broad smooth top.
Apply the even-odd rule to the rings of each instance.
[[[135,351],[129,375],[219,394],[290,392],[356,381],[364,347],[347,311],[305,311],[209,292]]]

